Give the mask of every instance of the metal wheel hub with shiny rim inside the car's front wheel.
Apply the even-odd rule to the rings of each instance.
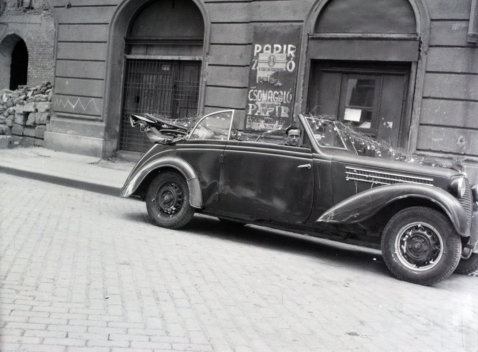
[[[409,224],[399,234],[399,253],[413,268],[433,266],[441,256],[439,236],[431,226],[422,223]]]

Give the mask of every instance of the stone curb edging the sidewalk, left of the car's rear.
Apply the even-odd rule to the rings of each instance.
[[[61,176],[48,175],[41,172],[27,171],[22,169],[15,169],[7,166],[0,165],[0,172],[7,173],[9,175],[25,177],[28,179],[44,181],[49,183],[55,183],[62,186],[79,188],[81,190],[97,192],[102,194],[114,195],[119,197],[121,188],[114,186],[107,186],[104,184],[98,184],[94,182],[79,181],[74,179],[69,179]]]

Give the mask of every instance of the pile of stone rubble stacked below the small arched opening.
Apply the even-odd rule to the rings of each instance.
[[[14,145],[42,146],[50,120],[52,84],[0,90],[0,149]]]

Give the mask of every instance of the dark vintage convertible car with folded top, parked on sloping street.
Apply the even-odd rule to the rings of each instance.
[[[166,228],[198,212],[380,243],[391,272],[417,284],[478,269],[478,187],[460,172],[357,155],[340,133],[302,115],[291,121],[302,131],[297,146],[284,145],[282,129],[248,132],[236,116],[212,113],[191,130],[131,116],[156,143],[121,196],[145,200]]]

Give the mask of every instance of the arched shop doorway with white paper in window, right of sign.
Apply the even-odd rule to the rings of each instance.
[[[410,1],[321,5],[308,38],[307,110],[406,148],[420,44]]]

